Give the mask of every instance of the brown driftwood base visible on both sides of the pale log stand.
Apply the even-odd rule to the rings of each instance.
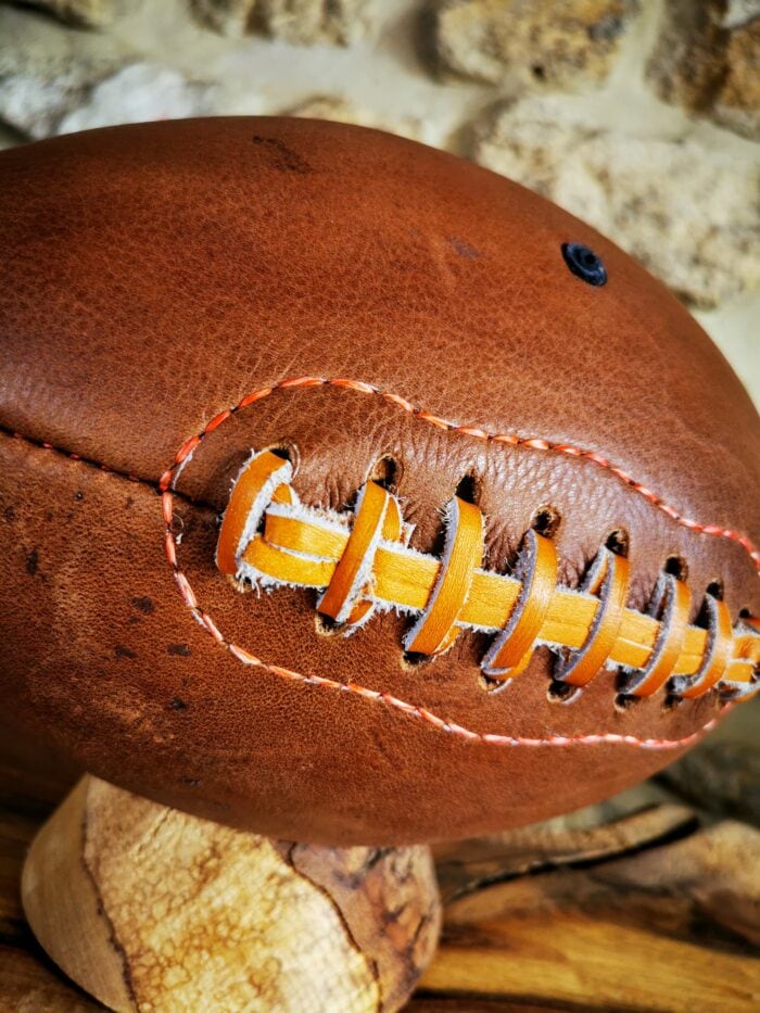
[[[56,784],[56,767],[35,765],[34,754],[0,762],[0,1011],[99,1009],[46,960],[21,912],[25,848],[72,776]],[[755,1011],[759,838],[646,784],[562,820],[439,846],[443,938],[407,1009]]]

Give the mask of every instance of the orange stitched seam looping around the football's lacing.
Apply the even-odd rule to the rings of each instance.
[[[408,704],[405,700],[401,700],[395,696],[392,696],[388,693],[381,693],[377,689],[370,689],[367,686],[362,686],[357,683],[341,683],[337,680],[327,679],[320,675],[304,675],[301,672],[295,672],[291,669],[283,668],[281,666],[271,664],[266,661],[263,661],[261,658],[257,658],[255,655],[252,655],[245,648],[240,647],[237,644],[228,641],[221,631],[218,629],[213,618],[201,608],[199,602],[195,597],[195,593],[192,590],[190,582],[188,581],[186,574],[179,567],[177,560],[177,542],[173,531],[173,496],[174,489],[173,483],[178,477],[181,469],[188,464],[192,455],[194,454],[197,447],[200,445],[203,438],[206,433],[217,429],[223,422],[229,419],[236,411],[241,408],[250,407],[257,402],[263,401],[264,398],[270,396],[276,390],[288,390],[288,389],[311,389],[315,387],[335,387],[338,389],[350,389],[355,390],[359,393],[373,394],[383,397],[385,401],[389,401],[392,404],[396,404],[398,407],[406,410],[408,414],[421,418],[425,421],[430,422],[431,425],[438,426],[439,428],[461,432],[468,435],[473,435],[477,439],[484,441],[494,441],[494,442],[509,442],[515,445],[523,444],[533,446],[539,449],[562,449],[561,446],[552,445],[545,441],[540,441],[541,446],[535,446],[536,441],[519,441],[517,438],[505,438],[498,435],[490,435],[483,430],[474,430],[470,427],[460,427],[454,422],[448,422],[445,419],[441,419],[436,416],[431,416],[428,413],[423,413],[420,409],[415,408],[409,402],[406,402],[404,398],[398,397],[397,395],[390,394],[389,392],[383,392],[379,388],[372,387],[371,384],[363,383],[360,381],[345,380],[342,378],[327,380],[319,377],[300,377],[294,379],[281,380],[271,387],[264,388],[263,390],[252,392],[246,394],[233,408],[225,409],[215,416],[206,427],[200,432],[190,436],[188,440],[182,443],[177,453],[175,454],[174,463],[166,469],[159,481],[159,490],[162,493],[162,511],[165,523],[165,533],[164,533],[164,549],[168,564],[170,565],[174,573],[174,579],[177,583],[178,590],[185,600],[186,606],[190,610],[191,615],[195,621],[212,636],[220,646],[225,647],[238,661],[243,664],[249,664],[254,668],[262,669],[270,674],[274,674],[280,679],[297,682],[302,685],[316,686],[319,688],[331,689],[338,693],[346,693],[349,695],[358,696],[363,699],[370,700],[372,702],[384,704],[398,711],[408,718],[415,718],[426,723],[432,725],[434,729],[446,732],[457,738],[467,742],[478,742],[485,745],[492,746],[522,746],[522,747],[563,747],[569,745],[601,745],[601,744],[620,744],[620,745],[630,745],[644,749],[677,749],[685,748],[686,746],[696,743],[702,735],[709,732],[712,727],[715,726],[720,720],[721,714],[726,713],[733,705],[729,704],[721,708],[721,713],[713,718],[711,721],[707,722],[701,729],[696,732],[691,733],[687,736],[684,736],[680,739],[667,739],[667,738],[639,738],[634,735],[621,735],[618,733],[593,733],[588,735],[548,735],[544,738],[534,738],[529,736],[511,736],[511,735],[501,735],[495,733],[481,733],[474,732],[471,729],[464,727],[455,722],[445,721],[443,718],[440,718],[438,714],[433,714],[431,711],[422,707],[417,707],[413,704]],[[568,453],[568,451],[566,451]],[[585,456],[583,452],[579,452],[575,448],[572,449],[573,456]],[[596,460],[599,464],[596,455],[588,457],[588,459]],[[608,467],[607,464],[603,467]],[[612,470],[612,469],[610,469]],[[616,472],[617,473],[617,472]],[[620,476],[619,476],[620,477]],[[632,480],[631,480],[632,481]],[[638,492],[643,493],[643,486],[634,485]],[[648,490],[646,491],[649,492]],[[653,493],[650,495],[654,496]],[[656,502],[656,505],[660,501]],[[668,511],[666,511],[668,512]],[[674,519],[677,519],[679,515],[673,510]],[[670,516],[670,515],[669,515]],[[683,521],[681,521],[683,522]],[[698,526],[695,522],[689,522],[686,527],[697,528]],[[719,530],[709,530],[707,527],[700,528],[705,533],[721,533],[725,537],[739,537],[735,533],[726,533],[726,531]],[[742,543],[744,544],[744,543]],[[750,543],[751,544],[751,543]],[[745,548],[747,546],[745,545]]]

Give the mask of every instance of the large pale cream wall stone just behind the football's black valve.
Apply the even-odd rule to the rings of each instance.
[[[687,302],[760,289],[757,159],[600,128],[559,97],[502,105],[473,153],[585,218]]]

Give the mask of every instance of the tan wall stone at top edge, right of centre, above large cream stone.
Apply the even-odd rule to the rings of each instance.
[[[609,73],[638,0],[433,0],[443,67],[491,84],[572,86]]]

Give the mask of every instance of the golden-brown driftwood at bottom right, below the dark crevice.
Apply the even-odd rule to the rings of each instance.
[[[725,821],[639,839],[632,854],[507,873],[446,907],[421,987],[562,1009],[757,1010],[758,870],[760,833]]]

